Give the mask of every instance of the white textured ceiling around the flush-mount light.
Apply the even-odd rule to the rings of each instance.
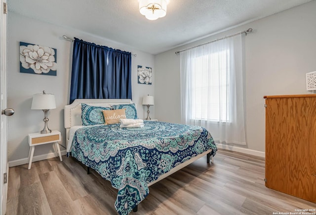
[[[158,54],[311,0],[170,0],[154,21],[139,13],[138,0],[7,1],[9,11]]]

